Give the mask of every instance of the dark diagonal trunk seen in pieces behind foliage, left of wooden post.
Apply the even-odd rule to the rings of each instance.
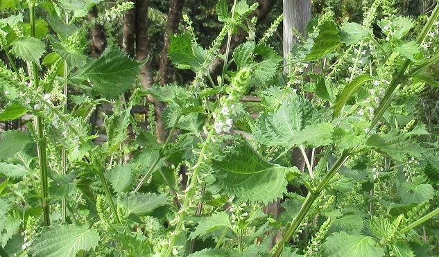
[[[296,1],[296,0],[290,0],[290,1]],[[268,13],[273,9],[273,6],[275,6],[276,0],[259,0],[258,1],[259,6],[257,9],[250,14],[249,19],[252,19],[252,17],[257,17],[257,23],[264,20]],[[238,32],[232,36],[232,41],[230,42],[230,53],[236,46],[246,41],[248,33],[243,30],[242,28],[239,28]],[[227,49],[227,45],[224,44],[221,49],[219,55],[225,54],[225,51]],[[228,54],[230,54],[228,53]],[[212,62],[212,65],[210,67],[210,73],[216,75],[221,73],[221,70],[223,69],[223,63],[224,60],[222,58],[216,58],[214,62]],[[213,76],[214,77],[214,76]]]

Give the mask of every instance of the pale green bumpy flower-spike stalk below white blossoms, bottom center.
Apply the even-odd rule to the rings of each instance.
[[[201,148],[200,156],[198,157],[197,163],[192,167],[193,172],[191,176],[191,182],[189,186],[186,188],[186,195],[184,195],[184,201],[182,209],[177,213],[177,224],[175,225],[175,230],[172,233],[171,241],[169,242],[169,247],[166,251],[166,254],[164,256],[169,257],[172,254],[172,249],[175,245],[175,240],[177,240],[178,235],[182,231],[182,227],[184,224],[184,220],[186,218],[186,212],[187,208],[189,207],[189,202],[191,201],[191,198],[193,196],[193,193],[195,193],[196,190],[196,183],[198,181],[198,173],[200,172],[202,168],[202,163],[205,161],[206,152],[209,148],[209,145],[212,141],[212,136],[214,136],[215,130],[214,128],[210,129],[209,134],[207,134],[207,138],[205,143],[203,144],[203,148]]]

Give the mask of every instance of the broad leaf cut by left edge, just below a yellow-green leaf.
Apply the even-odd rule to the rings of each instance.
[[[0,135],[0,159],[13,157],[15,153],[24,150],[32,140],[19,130],[9,130]]]

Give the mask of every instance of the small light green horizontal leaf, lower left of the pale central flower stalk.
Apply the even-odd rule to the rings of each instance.
[[[126,217],[131,213],[145,214],[158,206],[166,204],[167,195],[156,195],[153,193],[129,193],[120,195],[118,205],[123,206]]]

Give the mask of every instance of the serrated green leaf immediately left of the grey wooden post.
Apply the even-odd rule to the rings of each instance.
[[[268,82],[275,76],[282,57],[280,57],[273,48],[266,45],[256,46],[253,52],[255,55],[260,55],[263,60],[256,62],[253,66],[255,72],[252,74],[255,76],[255,79],[260,82]]]

